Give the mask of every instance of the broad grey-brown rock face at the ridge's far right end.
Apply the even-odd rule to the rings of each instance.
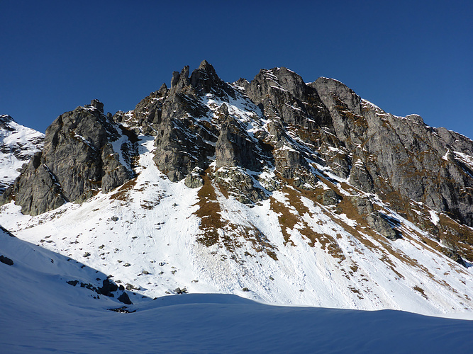
[[[339,81],[321,78],[311,85],[355,161],[350,183],[384,195],[399,210],[414,200],[473,226],[473,166],[464,160],[473,154],[471,140],[428,127],[419,115],[386,113]]]

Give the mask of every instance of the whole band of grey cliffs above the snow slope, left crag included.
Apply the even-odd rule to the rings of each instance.
[[[106,116],[98,101],[64,113],[2,198],[37,215],[107,193],[133,178],[138,135],[154,137],[153,160],[170,181],[211,183],[250,206],[291,190],[399,239],[399,220],[382,202],[429,232],[439,251],[473,261],[472,140],[418,115],[386,113],[340,81],[306,84],[286,68],[228,84],[204,61],[174,72],[170,88],[127,113]],[[218,222],[206,233],[212,228]]]

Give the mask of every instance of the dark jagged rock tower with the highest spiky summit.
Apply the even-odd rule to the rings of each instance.
[[[206,169],[208,156],[215,154],[213,143],[219,132],[208,124],[209,109],[201,96],[212,92],[226,97],[233,89],[203,62],[189,79],[189,67],[174,74],[171,89],[162,100],[160,120],[155,124],[155,164],[171,181],[180,181],[194,168]]]

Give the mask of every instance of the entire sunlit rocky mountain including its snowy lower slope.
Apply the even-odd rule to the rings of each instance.
[[[472,140],[284,67],[204,61],[134,110],[63,113],[0,199],[16,236],[149,297],[473,306]]]

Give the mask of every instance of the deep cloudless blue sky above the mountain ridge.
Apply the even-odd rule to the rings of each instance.
[[[206,59],[288,67],[473,138],[473,1],[0,0],[0,114],[45,131],[92,98],[133,109]]]

